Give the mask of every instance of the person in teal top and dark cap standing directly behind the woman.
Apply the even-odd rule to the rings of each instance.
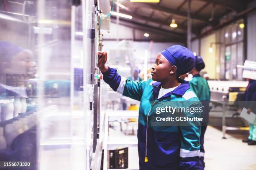
[[[205,78],[200,76],[200,71],[205,68],[205,63],[202,60],[202,57],[195,56],[195,67],[190,72],[193,75],[192,80],[189,81],[190,88],[195,92],[197,97],[202,102],[204,106],[202,117],[204,118],[203,122],[201,122],[201,136],[200,136],[200,160],[205,167],[204,163],[204,136],[207,128],[208,120],[209,120],[209,102],[210,102],[210,87]]]

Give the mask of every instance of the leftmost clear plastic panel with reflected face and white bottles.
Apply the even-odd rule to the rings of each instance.
[[[0,1],[0,161],[36,170],[37,1]]]

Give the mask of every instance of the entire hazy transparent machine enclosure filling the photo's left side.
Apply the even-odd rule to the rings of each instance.
[[[70,0],[0,2],[3,160],[10,155],[14,161],[31,163],[31,170],[90,169],[90,75],[95,68],[89,59],[96,45],[87,34],[95,24],[92,4],[93,0],[82,0],[78,6]]]

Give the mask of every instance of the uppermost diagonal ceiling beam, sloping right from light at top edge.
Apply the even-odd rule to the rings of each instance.
[[[130,7],[138,7],[139,6],[141,8],[147,8],[147,9],[151,9],[151,10],[159,10],[159,11],[163,11],[165,13],[180,15],[180,16],[183,16],[183,17],[187,18],[187,12],[183,12],[183,11],[180,11],[180,10],[177,10],[177,9],[171,9],[171,8],[158,6],[158,5],[152,5],[152,4],[145,4],[145,3],[141,3],[141,2],[138,2],[138,3],[134,4],[134,3],[131,3],[131,2],[128,2],[128,1],[123,1],[122,4],[125,5],[125,6],[130,6]],[[192,19],[195,19],[195,20],[204,21],[205,23],[209,23],[211,25],[214,25],[214,24],[218,23],[217,20],[213,20],[212,22],[210,22],[209,18],[205,18],[205,17],[200,16],[200,15],[191,14],[190,17]]]

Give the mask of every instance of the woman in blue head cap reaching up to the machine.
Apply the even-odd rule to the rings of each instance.
[[[107,53],[99,52],[98,66],[103,80],[125,96],[141,101],[138,117],[138,155],[140,170],[201,170],[200,122],[189,126],[154,126],[151,118],[156,107],[164,103],[201,106],[198,97],[189,89],[188,82],[179,75],[195,67],[195,56],[185,47],[173,45],[156,56],[152,79],[134,82],[118,75],[117,70],[105,65]],[[162,108],[161,107],[161,108]],[[188,105],[191,108],[191,105]],[[188,117],[196,114],[181,113]],[[153,121],[153,120],[152,120]]]

